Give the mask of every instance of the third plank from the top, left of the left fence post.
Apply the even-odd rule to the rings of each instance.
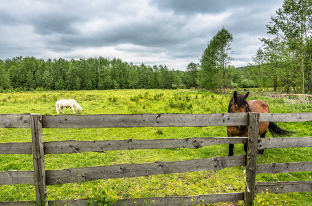
[[[0,185],[34,185],[34,171],[5,171],[0,172]]]

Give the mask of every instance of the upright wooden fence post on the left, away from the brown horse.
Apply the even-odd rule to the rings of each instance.
[[[42,135],[42,115],[30,114],[32,129],[32,157],[34,163],[34,187],[36,205],[47,205],[47,186],[45,184],[45,154]]]

